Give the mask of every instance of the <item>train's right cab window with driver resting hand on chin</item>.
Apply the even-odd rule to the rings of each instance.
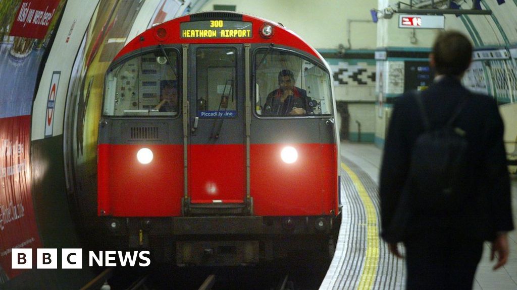
[[[262,116],[332,114],[327,71],[291,52],[255,54],[255,109]]]

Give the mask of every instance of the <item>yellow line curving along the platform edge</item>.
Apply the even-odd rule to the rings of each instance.
[[[379,262],[379,231],[377,228],[377,211],[372,200],[368,196],[368,192],[362,185],[354,171],[346,164],[341,163],[341,168],[350,176],[354,183],[359,197],[361,198],[367,219],[367,239],[366,239],[366,257],[364,259],[364,267],[359,280],[359,290],[370,290],[375,282],[377,266]]]

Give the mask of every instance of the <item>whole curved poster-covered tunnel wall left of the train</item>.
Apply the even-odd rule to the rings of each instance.
[[[18,36],[34,31],[28,25],[29,20],[25,23],[26,30],[23,25],[23,29],[17,26],[23,15],[27,15],[25,20],[31,19],[31,13],[38,14],[38,9],[54,8],[53,14],[47,15],[48,25],[44,30],[41,28],[39,35]],[[84,168],[81,160],[84,154],[77,150],[83,148],[83,142],[96,142],[92,132],[81,130],[76,134],[79,131],[76,129],[82,129],[81,124],[88,119],[86,114],[95,116],[86,112],[88,99],[85,102],[82,78],[89,73],[103,81],[105,68],[88,71],[84,63],[91,64],[93,56],[109,63],[126,39],[129,41],[154,23],[150,19],[166,21],[179,8],[175,0],[0,2],[0,286],[3,288],[36,285],[80,288],[95,275],[87,267],[82,271],[64,270],[60,266],[57,270],[13,270],[10,251],[15,247],[32,248],[34,253],[36,248],[57,248],[59,253],[62,248],[87,247],[81,243],[84,233],[77,226],[81,218],[74,207],[77,200],[70,198],[78,188],[74,184],[77,179],[72,174],[67,180],[65,175]],[[36,19],[34,15],[32,18]],[[125,31],[123,41],[113,34],[117,26]],[[56,45],[51,46],[52,41]],[[98,95],[92,100],[98,103]],[[65,119],[67,102],[70,116]],[[68,127],[69,132],[65,120],[74,122]],[[95,118],[88,121],[98,122]],[[65,138],[69,138],[68,142]],[[75,156],[73,162],[65,164],[65,149]],[[95,149],[87,156],[95,159]],[[75,167],[66,168],[66,165]],[[83,182],[89,180],[92,184],[90,177],[80,176]],[[87,193],[95,196],[95,190]]]

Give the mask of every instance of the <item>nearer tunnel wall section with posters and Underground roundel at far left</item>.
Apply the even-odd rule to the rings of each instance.
[[[96,3],[23,0],[4,1],[0,5],[3,13],[6,9],[12,12],[10,20],[4,23],[2,35],[1,57],[5,61],[0,65],[4,90],[0,94],[0,135],[7,147],[2,148],[0,164],[10,168],[19,164],[18,172],[9,172],[7,167],[7,174],[2,178],[2,216],[6,217],[4,220],[14,220],[17,214],[24,213],[2,232],[1,248],[2,251],[14,247],[32,248],[33,254],[36,248],[79,248],[81,243],[72,222],[64,179],[63,100],[69,64],[77,54]],[[39,20],[38,10],[52,11],[52,15]],[[45,21],[50,23],[44,30],[44,38],[39,40],[39,36],[32,35],[32,30],[43,29]],[[17,22],[24,22],[19,30],[16,30]],[[9,152],[9,148],[23,148],[23,155],[17,156],[12,150]],[[23,211],[15,214],[11,204],[18,205],[18,202],[21,202],[18,208]],[[12,208],[10,212],[9,208]],[[93,276],[88,269],[12,270],[10,254],[2,255],[0,263],[5,271],[5,288],[36,285],[79,288]]]

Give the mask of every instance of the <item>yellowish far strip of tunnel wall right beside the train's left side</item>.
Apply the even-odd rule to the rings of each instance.
[[[158,4],[158,5],[157,5]],[[65,160],[69,193],[79,223],[92,243],[101,239],[97,221],[97,133],[104,74],[118,51],[136,35],[172,19],[184,8],[177,1],[99,2],[75,58],[65,116]],[[106,227],[104,227],[107,229]],[[98,245],[101,246],[101,245]]]

